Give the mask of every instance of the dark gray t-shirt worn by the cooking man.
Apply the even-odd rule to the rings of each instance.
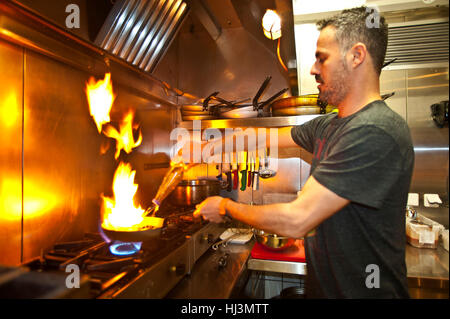
[[[405,120],[383,101],[345,118],[292,128],[311,174],[350,204],[305,238],[308,298],[408,298],[405,207],[414,150]]]

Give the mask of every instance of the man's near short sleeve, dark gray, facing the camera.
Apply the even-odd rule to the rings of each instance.
[[[380,128],[345,132],[313,172],[323,186],[352,202],[380,208],[403,171],[395,140]]]

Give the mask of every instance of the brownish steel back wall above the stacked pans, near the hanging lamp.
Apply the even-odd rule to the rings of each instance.
[[[289,87],[276,58],[244,28],[223,29],[217,41],[204,32],[180,33],[179,88],[200,97],[219,91],[225,99],[253,98],[272,76],[261,101]]]

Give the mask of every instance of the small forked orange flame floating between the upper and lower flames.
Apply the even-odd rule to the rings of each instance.
[[[142,133],[139,132],[138,140],[134,141],[133,136],[133,118],[134,111],[130,110],[125,115],[124,119],[120,123],[120,129],[117,129],[108,124],[106,128],[103,130],[103,133],[116,140],[116,154],[114,158],[119,158],[120,151],[124,150],[127,154],[130,154],[133,148],[138,147],[142,143]]]

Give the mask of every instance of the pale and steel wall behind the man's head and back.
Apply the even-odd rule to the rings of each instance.
[[[305,14],[304,10],[306,9],[301,6],[305,2],[294,0],[297,69],[301,94],[313,93],[317,90],[314,78],[309,75],[315,59],[315,45],[319,35],[312,22],[314,19],[331,15],[333,12],[330,10],[352,7],[350,4],[352,1],[339,2],[339,4],[336,3],[336,6],[340,6],[340,8],[322,7],[321,10],[327,12],[321,13],[319,5],[325,2],[327,1],[321,0],[317,4],[310,3],[308,7],[310,11]],[[377,4],[377,1],[370,2]],[[390,3],[379,2],[379,4],[383,4],[381,9],[397,10],[381,11],[389,25],[412,21],[420,23],[430,21],[430,19],[448,21],[448,2],[444,5],[441,3],[441,6],[434,6],[437,3],[431,5],[420,1],[413,2],[392,1]],[[412,9],[414,6],[417,8]],[[448,40],[446,45],[448,47]],[[444,128],[438,128],[435,125],[430,106],[449,99],[448,71],[448,60],[438,63],[416,63],[415,65],[400,64],[386,67],[380,77],[381,94],[395,92],[395,95],[386,102],[407,121],[411,130],[415,150],[415,166],[410,191],[420,195],[419,211],[446,227],[448,227],[449,200],[449,132],[448,125]],[[443,200],[441,208],[423,207],[423,195],[427,193],[439,194]]]

